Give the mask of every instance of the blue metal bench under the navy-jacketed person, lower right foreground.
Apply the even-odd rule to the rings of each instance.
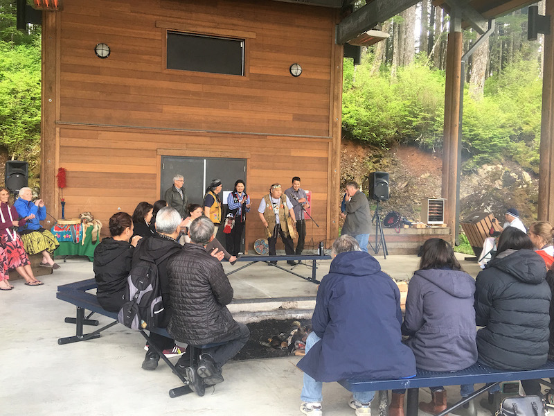
[[[432,372],[418,370],[415,377],[411,379],[396,380],[341,380],[339,383],[350,392],[379,391],[379,416],[387,414],[388,390],[408,389],[408,403],[406,416],[418,415],[419,388],[434,387],[436,385],[460,385],[487,383],[483,388],[476,390],[469,397],[458,401],[447,410],[437,416],[445,416],[452,410],[466,404],[475,397],[481,395],[497,385],[501,381],[544,379],[554,376],[554,361],[548,361],[537,370],[512,371],[496,370],[487,365],[476,363],[465,370],[456,372]],[[541,381],[544,385],[552,386],[547,381]]]

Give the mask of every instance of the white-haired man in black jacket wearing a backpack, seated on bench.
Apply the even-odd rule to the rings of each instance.
[[[160,323],[161,328],[167,327],[169,317],[171,315],[167,264],[172,255],[175,255],[181,251],[181,245],[177,242],[177,237],[181,232],[180,224],[181,216],[175,209],[171,207],[160,209],[156,216],[157,233],[150,237],[150,239],[141,239],[139,244],[136,245],[133,253],[132,266],[136,266],[136,264],[141,261],[141,257],[145,254],[152,257],[154,262],[157,263],[161,299],[163,302],[163,318]],[[173,254],[167,257],[166,254],[169,254],[170,252]],[[166,256],[166,258],[158,263],[158,259],[163,256]],[[171,349],[175,346],[174,340],[166,336],[158,335],[154,332],[150,332],[150,340],[162,351],[164,349]],[[149,349],[148,352],[146,352],[146,356],[142,364],[143,369],[156,370],[159,359],[160,356],[154,351],[154,349]]]

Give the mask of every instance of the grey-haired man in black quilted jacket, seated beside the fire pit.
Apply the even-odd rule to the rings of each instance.
[[[159,215],[159,214],[158,214]],[[236,322],[226,305],[233,300],[233,288],[216,258],[204,250],[213,239],[213,223],[202,216],[188,229],[192,243],[168,261],[172,300],[169,333],[181,343],[200,346],[222,343],[202,349],[197,368],[188,367],[181,357],[177,369],[183,371],[193,390],[202,383],[223,381],[221,368],[247,343],[250,331]]]

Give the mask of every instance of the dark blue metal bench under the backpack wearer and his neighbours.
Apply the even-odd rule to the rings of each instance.
[[[98,303],[98,299],[96,298],[96,295],[94,295],[93,293],[87,292],[96,287],[97,285],[94,279],[75,281],[74,283],[64,284],[62,286],[57,287],[57,293],[56,293],[57,299],[63,300],[64,302],[69,302],[70,304],[73,304],[77,307],[77,315],[75,318],[65,318],[65,322],[76,324],[75,336],[69,336],[66,338],[58,339],[57,343],[59,345],[77,343],[80,341],[100,338],[100,332],[105,331],[105,329],[113,327],[115,324],[118,323],[117,313],[105,311],[105,309],[103,309],[102,306],[100,306],[100,304]],[[91,313],[87,316],[87,318],[85,318],[84,316],[85,310],[91,311]],[[93,313],[99,313],[100,315],[107,316],[108,318],[113,319],[114,322],[111,322],[110,324],[107,324],[105,327],[97,329],[96,331],[93,331],[90,333],[83,333],[84,325],[98,326],[98,320],[90,319]],[[172,338],[165,328],[155,328],[155,329],[152,329],[151,332],[155,332],[155,333],[158,333],[159,335]],[[188,385],[188,380],[180,372],[176,370],[175,365],[173,365],[171,361],[169,361],[169,359],[163,354],[163,352],[156,345],[154,345],[152,341],[150,341],[150,337],[145,333],[145,331],[141,330],[140,333],[148,341],[148,345],[151,348],[154,348],[154,351],[163,359],[163,361],[170,367],[172,372],[175,375],[177,375],[177,377],[179,377],[179,380],[181,380],[181,382],[184,384],[182,386],[169,390],[170,397],[179,397],[192,392],[193,390],[190,389]],[[190,352],[191,363],[193,361],[194,356],[195,356],[195,352],[191,351]]]

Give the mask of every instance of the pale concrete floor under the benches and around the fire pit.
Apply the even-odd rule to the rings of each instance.
[[[377,259],[396,279],[408,279],[418,264],[415,256]],[[329,263],[321,261],[318,278],[328,272]],[[15,280],[13,291],[0,293],[4,317],[0,415],[301,415],[302,373],[295,356],[231,362],[224,368],[226,381],[206,390],[204,397],[170,399],[168,390],[180,381],[163,363],[154,372],[141,369],[144,340],[140,333],[116,325],[96,340],[57,345],[57,338],[75,334],[74,325],[64,323],[66,316],[74,316],[75,308],[56,299],[57,286],[93,277],[92,263],[86,260],[60,264],[62,268],[53,275],[44,276],[44,286],[24,286],[23,280]],[[224,267],[230,271],[238,264]],[[463,263],[463,267],[473,276],[479,271],[476,264]],[[305,266],[295,271],[310,275]],[[241,302],[316,294],[315,284],[265,263],[235,273],[230,280]],[[98,320],[100,325],[109,323],[102,316]],[[325,383],[323,395],[325,415],[353,415],[348,407],[350,393],[338,383]],[[428,390],[422,389],[420,399],[428,398]],[[458,388],[449,388],[449,401],[458,398]]]

